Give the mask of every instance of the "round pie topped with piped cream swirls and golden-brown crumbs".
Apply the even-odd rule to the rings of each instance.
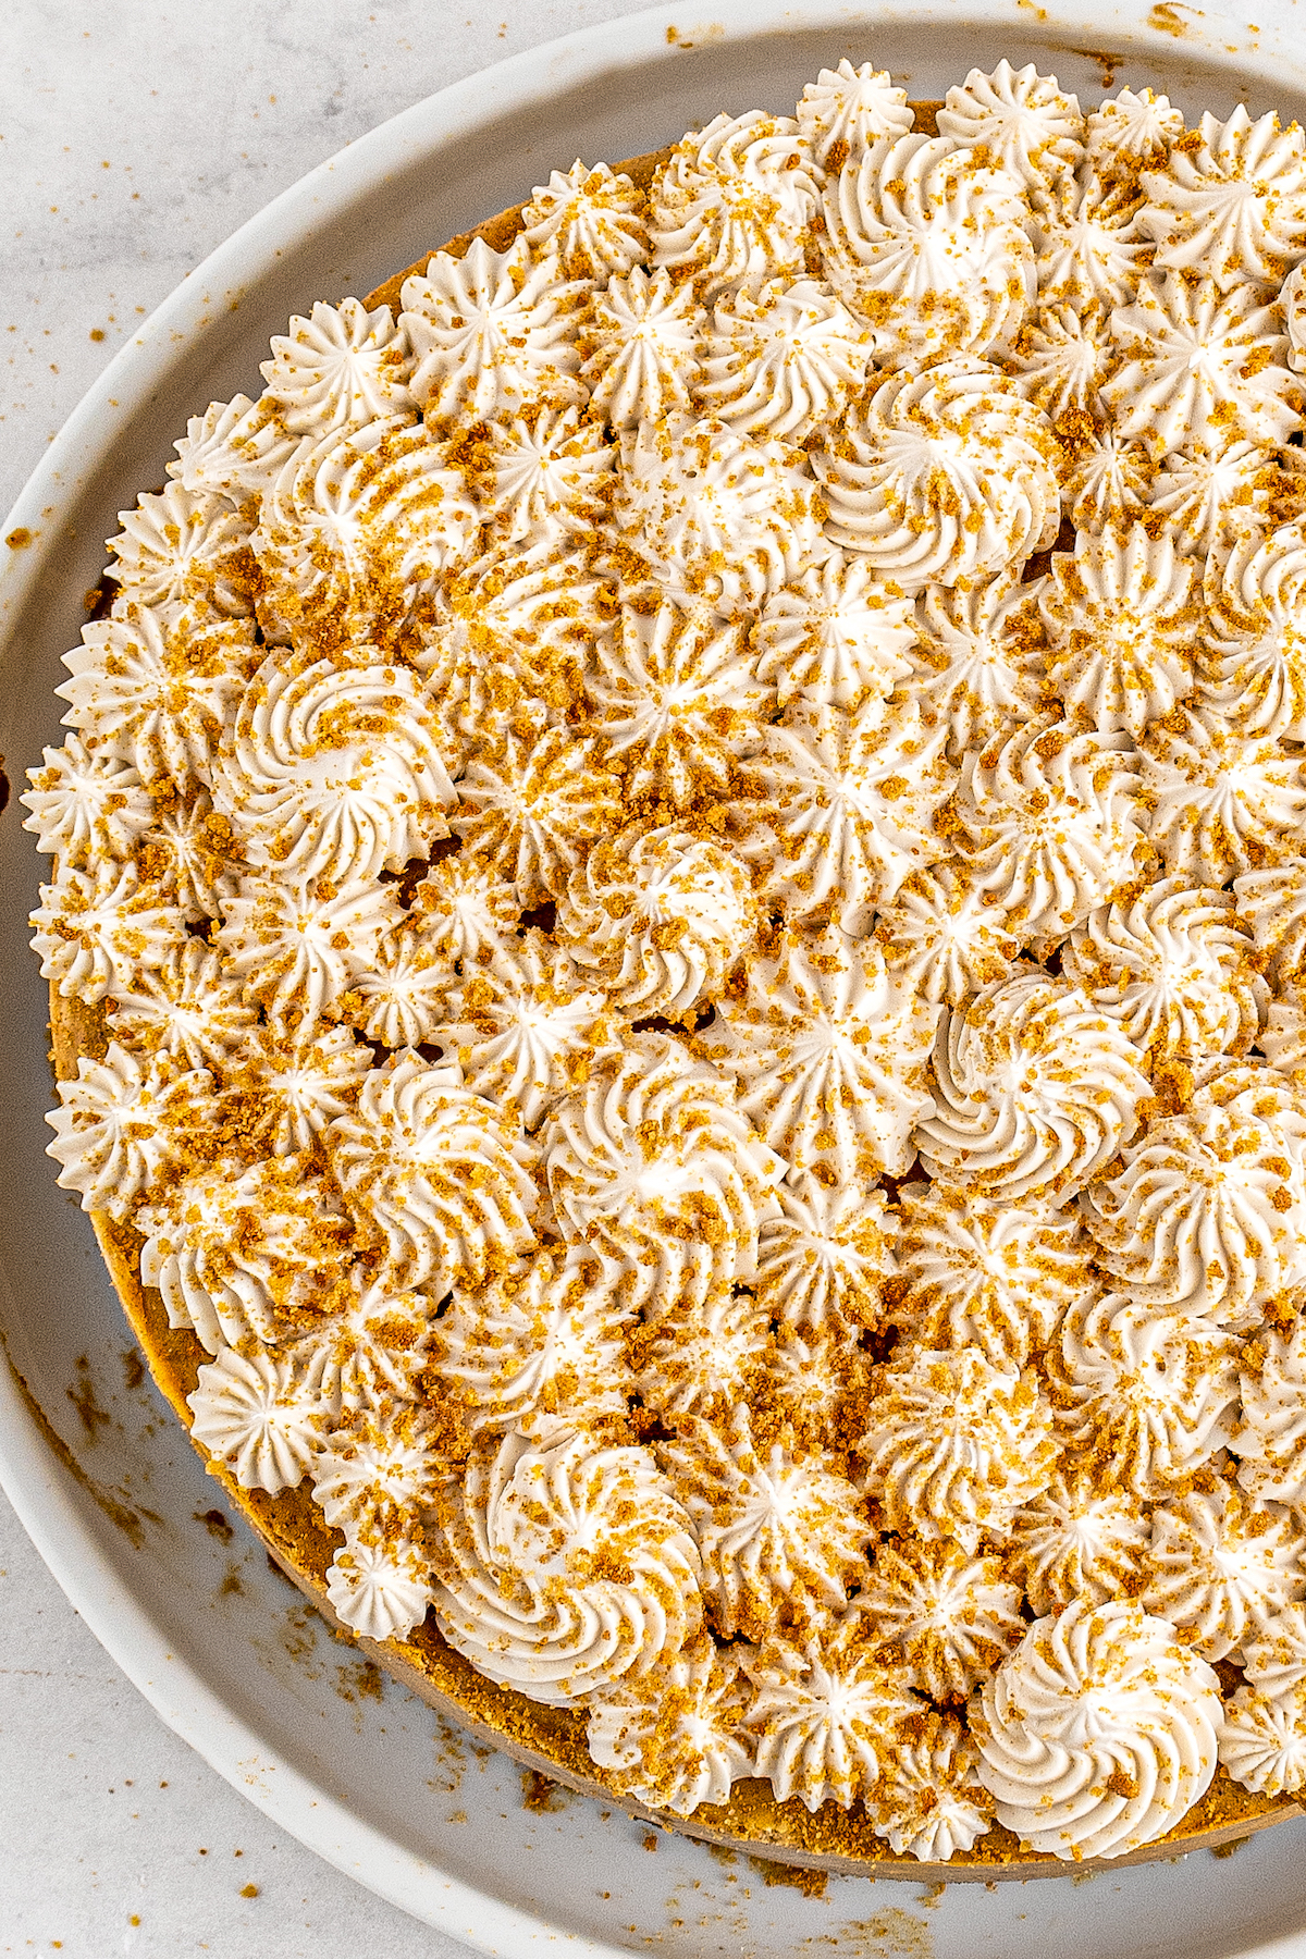
[[[337,1624],[662,1822],[1306,1781],[1306,139],[1001,63],[556,170],[110,541],[51,1156]]]

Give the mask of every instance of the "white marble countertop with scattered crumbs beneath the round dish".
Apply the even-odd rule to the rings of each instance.
[[[642,0],[468,4],[6,0],[0,515],[123,335],[272,196],[437,88]],[[4,1497],[0,1816],[0,1955],[464,1951],[276,1830],[164,1728]]]

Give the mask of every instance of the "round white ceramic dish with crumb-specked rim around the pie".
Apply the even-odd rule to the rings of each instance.
[[[875,59],[940,96],[1003,55],[1096,98],[1151,82],[1192,112],[1281,108],[1306,119],[1306,55],[1288,6],[1261,29],[1163,4],[957,0],[916,10],[730,0],[658,8],[535,49],[352,145],[221,247],[145,323],[82,402],[0,537],[0,750],[10,772],[59,739],[59,654],[76,641],[114,513],[163,482],[186,415],[257,390],[266,339],[315,298],[366,292],[423,247],[529,194],[552,165],[654,149],[719,108],[787,108],[840,55]],[[1114,67],[1114,82],[1110,69]],[[129,1385],[127,1330],[88,1222],[43,1156],[45,985],[25,915],[41,862],[0,817],[0,968],[8,1117],[0,1191],[0,1481],[65,1591],[155,1708],[235,1787],[323,1857],[415,1916],[495,1953],[715,1951],[1124,1959],[1296,1953],[1306,1959],[1306,1820],[1232,1859],[1198,1853],[1081,1887],[832,1879],[824,1898],[768,1887],[746,1863],[570,1800],[527,1810],[503,1757],[478,1759],[425,1706],[374,1698],[237,1526],[149,1385]],[[78,1412],[78,1409],[82,1412]],[[100,1420],[100,1412],[106,1416]],[[63,1450],[51,1446],[51,1432]],[[360,1693],[360,1689],[366,1689]]]

